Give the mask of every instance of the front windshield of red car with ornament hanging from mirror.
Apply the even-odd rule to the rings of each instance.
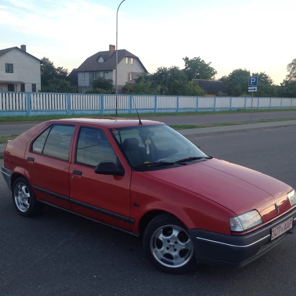
[[[167,125],[110,129],[130,165],[137,171],[157,170],[206,160],[189,140]]]

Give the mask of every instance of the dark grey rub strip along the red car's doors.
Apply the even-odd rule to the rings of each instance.
[[[104,215],[107,215],[107,216],[116,218],[116,219],[121,220],[121,221],[124,221],[124,222],[128,222],[130,224],[134,224],[135,223],[135,220],[132,219],[132,218],[130,218],[130,217],[123,216],[121,214],[117,214],[115,212],[111,212],[109,210],[105,210],[105,209],[102,209],[102,208],[99,208],[99,207],[95,207],[95,206],[93,206],[91,204],[84,203],[84,202],[82,202],[80,200],[73,199],[73,198],[70,198],[68,196],[60,195],[58,193],[49,191],[47,189],[44,189],[44,188],[41,188],[41,187],[38,187],[38,186],[35,186],[35,185],[33,187],[37,191],[40,191],[40,192],[46,193],[48,195],[51,195],[53,197],[56,197],[56,198],[59,198],[59,199],[68,201],[68,202],[70,202],[72,204],[76,204],[78,206],[81,206],[81,207],[87,208],[89,210],[92,210],[92,211],[95,211],[95,212],[98,212],[98,213],[101,213],[101,214],[104,214]]]

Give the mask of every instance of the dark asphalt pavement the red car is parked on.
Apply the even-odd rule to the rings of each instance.
[[[290,126],[191,140],[296,187],[295,136]],[[1,296],[296,295],[295,234],[244,268],[197,265],[176,276],[155,270],[140,241],[120,231],[51,207],[40,217],[19,216],[2,177],[0,219]]]

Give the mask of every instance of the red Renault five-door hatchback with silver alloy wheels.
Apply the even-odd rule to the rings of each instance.
[[[295,227],[292,187],[212,158],[156,121],[40,123],[7,143],[2,175],[20,215],[49,204],[140,236],[169,273],[244,266]]]

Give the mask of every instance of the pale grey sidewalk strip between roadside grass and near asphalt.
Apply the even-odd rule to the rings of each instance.
[[[186,138],[191,138],[191,137],[199,137],[199,136],[236,133],[236,132],[243,132],[247,130],[263,130],[268,128],[284,127],[284,126],[290,126],[290,125],[296,125],[296,120],[203,127],[203,128],[197,128],[197,129],[178,130],[178,132]],[[3,158],[5,145],[6,144],[0,144],[0,159]]]

